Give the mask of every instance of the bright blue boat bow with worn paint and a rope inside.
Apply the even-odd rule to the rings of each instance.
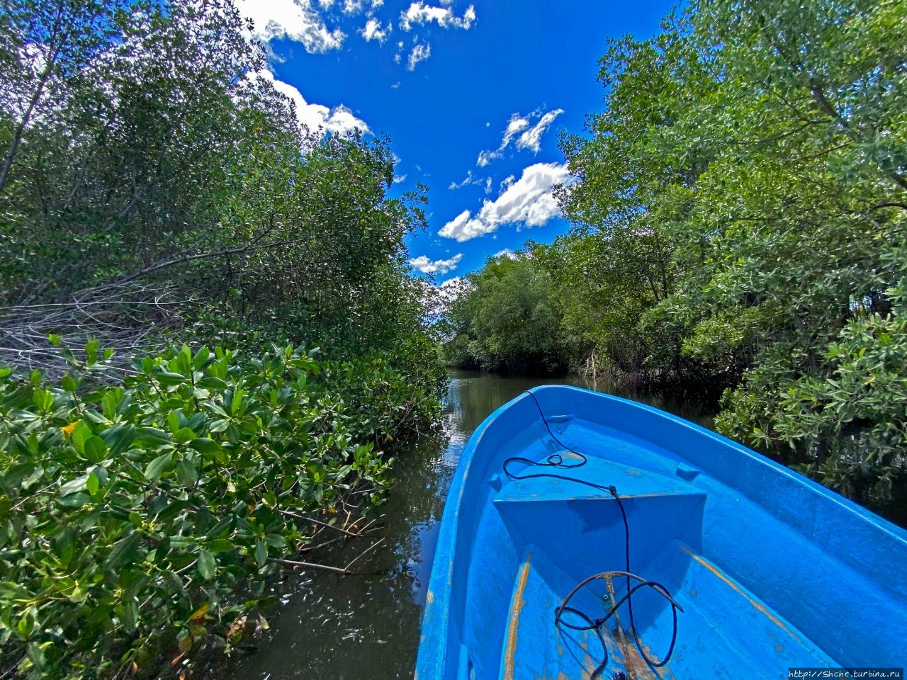
[[[715,432],[551,385],[463,452],[416,677],[902,677],[905,660],[907,531]]]

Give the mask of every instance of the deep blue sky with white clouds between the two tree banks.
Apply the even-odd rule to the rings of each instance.
[[[567,230],[551,199],[568,179],[558,133],[600,110],[607,39],[656,34],[673,4],[237,0],[302,121],[387,134],[393,193],[429,187],[429,228],[408,247],[438,282]]]

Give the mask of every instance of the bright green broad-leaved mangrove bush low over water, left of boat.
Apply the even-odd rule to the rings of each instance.
[[[5,673],[102,677],[229,648],[278,560],[311,542],[307,518],[381,502],[391,460],[373,434],[419,421],[415,388],[375,362],[184,345],[85,391],[96,352],[59,384],[0,373]]]

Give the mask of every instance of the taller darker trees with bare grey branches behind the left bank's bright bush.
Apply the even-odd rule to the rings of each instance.
[[[48,333],[337,357],[424,335],[403,243],[423,193],[388,197],[387,141],[300,128],[229,0],[0,17],[6,362],[42,364]]]

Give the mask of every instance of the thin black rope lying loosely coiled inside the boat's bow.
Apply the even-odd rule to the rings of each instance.
[[[618,508],[620,510],[620,517],[623,519],[623,524],[624,524],[624,547],[625,547],[626,570],[624,570],[624,571],[603,571],[600,574],[596,574],[595,576],[590,576],[589,578],[586,578],[585,580],[580,581],[580,583],[571,590],[570,594],[567,597],[564,597],[564,599],[561,601],[561,605],[559,607],[557,607],[557,609],[554,610],[554,624],[555,624],[555,626],[564,626],[564,627],[572,628],[573,630],[591,630],[591,631],[594,631],[597,636],[599,636],[599,639],[601,641],[601,647],[604,650],[605,658],[601,662],[599,667],[596,668],[595,671],[592,673],[591,677],[594,678],[594,677],[597,677],[598,675],[600,675],[600,673],[605,669],[605,666],[608,665],[608,647],[605,645],[604,637],[601,634],[601,627],[605,624],[606,621],[608,621],[608,619],[610,619],[610,617],[613,617],[617,613],[619,607],[621,607],[626,602],[627,610],[629,612],[629,626],[630,626],[630,630],[632,631],[632,634],[633,634],[633,641],[636,643],[636,648],[639,650],[639,656],[642,656],[642,658],[645,660],[645,662],[647,664],[654,666],[656,668],[660,668],[661,666],[667,664],[671,658],[671,655],[674,654],[674,645],[677,642],[677,636],[678,636],[678,610],[680,612],[683,612],[683,607],[680,607],[680,605],[678,605],[678,603],[675,601],[675,599],[670,596],[670,593],[668,593],[668,589],[665,588],[664,586],[662,586],[660,583],[658,583],[656,581],[650,581],[647,578],[642,578],[640,576],[637,576],[636,574],[633,574],[630,571],[630,567],[629,567],[629,539],[630,539],[630,537],[629,537],[629,521],[627,520],[627,510],[624,508],[623,501],[620,499],[617,488],[614,485],[605,486],[603,484],[596,484],[594,481],[582,480],[582,479],[578,479],[576,477],[570,477],[568,475],[557,474],[555,472],[515,474],[508,469],[508,466],[512,465],[513,463],[522,463],[523,465],[526,465],[528,467],[533,467],[533,468],[554,468],[557,470],[572,470],[575,468],[582,467],[589,461],[589,459],[585,455],[583,455],[580,452],[574,451],[573,449],[571,449],[571,447],[567,446],[567,444],[565,444],[564,442],[561,442],[561,440],[558,438],[558,436],[554,432],[551,431],[551,425],[548,424],[548,419],[545,418],[545,413],[541,408],[541,403],[539,403],[539,400],[536,398],[535,394],[533,394],[529,390],[527,390],[526,393],[529,394],[532,397],[532,401],[535,402],[535,406],[539,410],[539,415],[541,416],[541,422],[545,424],[545,429],[548,431],[548,434],[551,436],[551,439],[554,440],[554,442],[557,443],[558,446],[560,446],[564,451],[566,451],[568,453],[572,453],[574,456],[577,456],[580,460],[570,462],[570,463],[564,462],[563,456],[561,455],[560,452],[552,453],[550,456],[548,456],[548,458],[546,459],[545,462],[532,461],[531,459],[523,458],[522,456],[513,456],[512,458],[508,458],[506,461],[503,462],[504,474],[507,475],[507,478],[510,480],[532,480],[532,479],[537,479],[537,478],[549,478],[549,479],[555,479],[555,480],[573,481],[578,484],[584,484],[585,486],[588,486],[592,489],[597,489],[599,491],[606,491],[606,492],[610,493],[611,496],[614,497],[614,500],[617,501]],[[612,587],[611,587],[612,579],[614,577],[621,577],[621,576],[625,577],[627,579],[627,594],[624,595],[623,597],[621,597],[618,602],[614,602],[611,605],[608,612],[606,612],[605,616],[593,620],[588,615],[581,612],[579,609],[574,609],[573,607],[568,607],[568,604],[570,603],[571,598],[574,595],[576,595],[582,588],[585,588],[586,586],[588,586],[592,581],[599,580],[599,579],[603,580],[609,585],[609,587],[610,587],[609,589],[612,589]],[[639,581],[639,583],[637,583],[637,585],[635,585],[633,587],[630,587],[631,578],[636,579],[637,581]],[[636,622],[633,619],[633,594],[635,592],[637,592],[640,588],[652,588],[661,597],[664,597],[665,599],[667,599],[671,606],[671,613],[674,617],[674,629],[673,629],[673,632],[671,633],[671,643],[670,643],[670,646],[668,646],[668,653],[660,661],[654,660],[651,657],[649,657],[648,654],[646,654],[646,651],[642,648],[642,641],[639,639],[639,633],[637,633],[637,630],[636,630]],[[574,616],[580,617],[581,619],[586,621],[586,625],[576,626],[576,625],[572,625],[572,624],[564,621],[562,618],[562,615],[564,612],[570,612]]]

